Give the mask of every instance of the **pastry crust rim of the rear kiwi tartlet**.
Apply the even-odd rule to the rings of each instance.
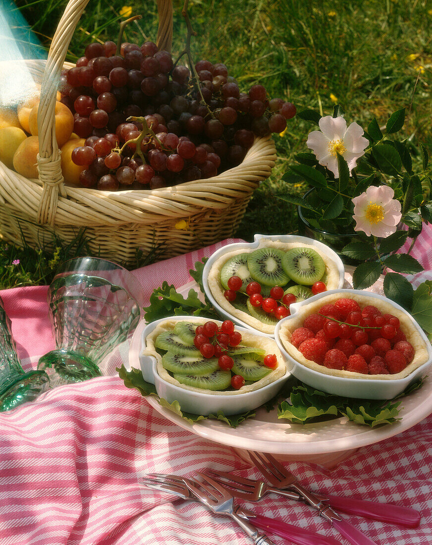
[[[326,286],[328,290],[337,289],[339,287],[339,271],[336,263],[334,263],[334,261],[330,257],[324,255],[323,253],[320,253],[316,246],[302,243],[285,243],[281,242],[280,240],[261,240],[257,248],[234,250],[232,252],[225,253],[223,256],[217,259],[210,269],[208,282],[211,294],[214,296],[218,305],[221,306],[223,310],[229,312],[229,314],[231,314],[235,318],[238,318],[245,324],[251,325],[254,329],[257,329],[258,331],[262,331],[263,333],[269,333],[270,335],[272,335],[275,332],[274,325],[264,324],[263,322],[260,322],[260,320],[258,320],[257,318],[254,318],[250,314],[243,312],[238,308],[235,308],[232,304],[230,304],[229,301],[227,301],[227,299],[223,295],[225,288],[222,286],[220,281],[221,269],[223,265],[228,261],[228,259],[238,255],[239,253],[252,253],[259,248],[269,247],[277,248],[278,250],[284,250],[285,252],[291,250],[291,248],[311,248],[312,250],[317,251],[319,255],[323,258],[326,267],[324,274],[327,275]]]

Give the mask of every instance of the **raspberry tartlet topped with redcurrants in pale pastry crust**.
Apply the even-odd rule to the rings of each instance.
[[[321,296],[281,323],[278,338],[296,362],[333,377],[398,380],[430,359],[407,313],[385,298],[346,292]]]

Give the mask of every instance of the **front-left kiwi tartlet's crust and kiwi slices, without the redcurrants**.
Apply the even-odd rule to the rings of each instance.
[[[218,325],[220,323],[216,322]],[[277,344],[270,338],[242,331],[239,346],[229,347],[234,360],[232,370],[223,370],[218,359],[204,358],[191,342],[191,335],[198,325],[209,322],[207,318],[167,318],[147,336],[144,355],[157,360],[157,374],[168,383],[193,392],[215,395],[238,395],[258,390],[283,377],[287,373],[283,356]],[[275,354],[275,368],[263,364],[264,355]],[[231,387],[231,379],[239,374],[245,385],[239,390]]]

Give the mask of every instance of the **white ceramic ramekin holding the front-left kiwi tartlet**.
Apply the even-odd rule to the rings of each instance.
[[[167,319],[175,319],[178,321],[190,321],[190,316],[175,316],[169,318],[162,318],[148,324],[142,332],[141,335],[141,344],[139,348],[139,362],[141,364],[141,371],[145,381],[154,384],[156,386],[157,395],[166,399],[169,403],[178,401],[181,407],[181,410],[187,413],[200,414],[203,416],[208,416],[210,413],[216,414],[217,411],[223,411],[224,414],[239,414],[245,413],[246,411],[256,409],[263,403],[269,401],[274,397],[277,392],[281,389],[285,381],[289,377],[289,372],[285,372],[285,375],[281,378],[276,379],[270,384],[254,390],[252,392],[238,393],[230,392],[229,395],[217,395],[215,393],[200,393],[186,390],[180,386],[171,384],[161,378],[157,373],[157,360],[154,356],[148,356],[143,354],[143,350],[146,346],[147,336],[156,328],[158,324],[164,322]],[[221,322],[217,320],[212,320],[218,325]],[[248,334],[251,334],[250,329],[245,328],[236,328],[236,330],[243,332],[246,331]],[[264,334],[256,334],[257,337],[266,337]],[[259,339],[258,339],[259,341]],[[275,349],[277,349],[275,343]]]

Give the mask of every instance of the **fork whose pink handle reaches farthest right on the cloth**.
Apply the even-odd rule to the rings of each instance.
[[[286,469],[285,471],[288,474]],[[246,479],[246,477],[232,475],[231,473],[226,473],[226,471],[212,470],[211,474],[216,481],[233,489],[233,495],[238,499],[258,501],[263,498],[265,494],[273,493],[285,496],[285,498],[304,501],[304,499],[293,490],[272,487],[267,485],[264,481]],[[399,526],[405,526],[406,528],[416,528],[421,518],[418,511],[409,507],[399,507],[398,505],[393,504],[382,504],[376,501],[351,499],[343,496],[324,496],[320,494],[315,494],[315,496],[339,511],[373,520],[380,520],[381,522],[398,524]]]

